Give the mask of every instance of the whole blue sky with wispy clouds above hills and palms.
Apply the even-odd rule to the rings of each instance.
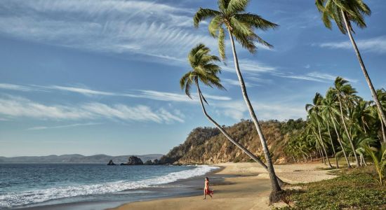
[[[250,55],[237,45],[258,118],[304,118],[336,76],[370,99],[348,37],[324,27],[314,1],[294,2],[248,6],[280,25],[257,31],[273,49]],[[373,13],[354,38],[373,84],[386,87],[386,4],[365,2]],[[218,53],[207,23],[192,27],[200,6],[216,1],[0,1],[0,156],[167,153],[194,127],[211,126],[178,85],[194,45]],[[204,89],[223,125],[249,118],[229,52],[228,43],[227,91]]]

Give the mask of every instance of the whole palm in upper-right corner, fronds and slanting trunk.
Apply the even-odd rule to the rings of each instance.
[[[358,50],[357,43],[355,43],[355,40],[352,37],[352,32],[354,32],[352,29],[352,22],[354,22],[359,28],[365,28],[366,22],[364,20],[364,16],[371,15],[370,8],[363,2],[363,0],[316,0],[315,3],[321,13],[324,25],[328,29],[331,29],[331,20],[334,20],[342,34],[349,35],[352,46],[357,54],[359,64],[361,65],[362,72],[366,78],[367,85],[371,90],[371,95],[378,107],[383,123],[386,123],[385,111],[382,109],[382,104],[380,104],[373,83],[371,82],[370,76],[368,76],[366,66],[364,66],[364,61]]]

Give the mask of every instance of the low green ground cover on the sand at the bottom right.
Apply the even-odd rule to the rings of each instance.
[[[379,186],[368,167],[342,169],[335,179],[296,184],[286,190],[290,207],[280,209],[386,209],[386,186]]]

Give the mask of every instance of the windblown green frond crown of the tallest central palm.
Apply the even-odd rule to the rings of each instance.
[[[260,43],[269,48],[272,45],[255,34],[254,29],[274,29],[278,25],[261,18],[259,15],[244,13],[249,0],[219,0],[219,10],[199,8],[194,15],[194,27],[199,27],[202,20],[211,18],[208,30],[211,36],[218,38],[218,51],[220,57],[225,59],[225,28],[232,33],[234,38],[249,52],[256,52],[255,43]]]

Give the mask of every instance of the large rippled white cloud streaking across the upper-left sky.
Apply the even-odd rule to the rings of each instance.
[[[186,52],[198,42],[215,46],[207,33],[192,27],[192,13],[139,0],[4,0],[0,2],[0,34],[81,50],[185,62]]]

